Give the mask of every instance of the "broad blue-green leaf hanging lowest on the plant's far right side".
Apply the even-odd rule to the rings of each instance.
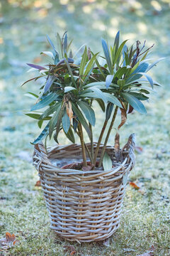
[[[140,112],[141,114],[147,114],[147,110],[145,109],[145,106],[140,102],[140,100],[137,100],[136,97],[130,95],[129,93],[122,92],[123,98],[135,109],[137,112]]]

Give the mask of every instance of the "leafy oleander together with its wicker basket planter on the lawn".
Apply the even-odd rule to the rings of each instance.
[[[135,164],[135,134],[130,135],[123,149],[118,131],[115,145],[109,146],[108,138],[118,110],[118,130],[133,109],[147,113],[142,101],[149,99],[154,85],[159,85],[147,71],[160,59],[149,65],[150,48],[145,50],[145,43],[140,48],[139,41],[135,47],[126,46],[127,41],[120,44],[119,32],[111,48],[102,39],[104,55],[93,53],[86,46],[80,57],[82,47],[73,55],[67,33],[62,38],[57,34],[58,51],[48,36],[47,40],[52,52],[42,54],[50,57],[49,63],[28,64],[40,73],[30,80],[45,78],[45,82],[39,95],[29,92],[36,102],[27,115],[37,119],[40,128],[46,123],[33,142],[33,164],[39,172],[51,228],[68,240],[104,240],[118,228],[128,174]],[[94,102],[98,102],[105,117],[97,142],[93,136]],[[72,144],[58,144],[60,132]],[[84,133],[88,134],[89,143],[84,142]],[[80,144],[75,144],[75,134]],[[47,147],[47,137],[53,137],[57,146]],[[54,164],[54,159],[60,161]]]

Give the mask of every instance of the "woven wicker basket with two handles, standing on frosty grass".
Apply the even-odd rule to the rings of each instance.
[[[89,148],[90,145],[86,144]],[[96,144],[94,144],[94,148]],[[101,154],[100,147],[98,158]],[[78,242],[105,240],[118,229],[128,174],[135,164],[135,134],[120,150],[116,161],[113,146],[107,153],[114,168],[108,171],[62,169],[52,164],[54,159],[81,161],[81,146],[55,146],[47,149],[36,144],[33,164],[39,172],[45,203],[50,214],[50,228]]]

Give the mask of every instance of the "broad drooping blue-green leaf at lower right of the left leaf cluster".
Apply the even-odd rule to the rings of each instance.
[[[89,123],[94,126],[96,122],[94,110],[86,102],[79,101],[77,102],[77,104],[79,105],[81,110],[84,112],[86,119],[88,119]]]

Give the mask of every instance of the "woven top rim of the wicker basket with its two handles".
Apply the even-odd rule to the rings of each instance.
[[[96,144],[94,142],[94,144]],[[57,172],[58,174],[62,174],[62,176],[70,176],[70,175],[80,175],[84,176],[84,179],[86,180],[86,177],[88,178],[95,178],[101,174],[101,180],[103,176],[111,176],[115,174],[118,171],[123,171],[123,173],[126,171],[126,169],[132,169],[132,166],[135,165],[135,134],[131,134],[128,143],[123,146],[123,149],[120,150],[120,152],[123,154],[127,153],[127,156],[125,156],[125,159],[123,159],[123,162],[117,162],[116,165],[111,169],[108,169],[106,171],[101,170],[101,169],[95,169],[92,171],[82,171],[82,170],[76,170],[76,169],[62,169],[59,166],[56,166],[52,164],[50,158],[50,153],[55,150],[62,150],[64,149],[65,151],[67,149],[70,149],[70,147],[74,148],[75,146],[81,146],[80,144],[69,144],[69,145],[57,145],[57,146],[48,146],[47,151],[45,150],[44,145],[41,143],[36,144],[34,148],[34,154],[33,154],[33,164],[35,167],[40,171],[40,169],[43,169],[43,171],[46,172]],[[103,145],[101,144],[101,147]],[[128,146],[128,151],[125,151],[125,148]],[[114,146],[108,145],[106,149],[114,149]],[[55,154],[55,153],[54,153]],[[57,159],[57,157],[55,158]],[[67,157],[64,157],[64,159],[69,159]],[[39,164],[35,164],[35,161],[39,161]]]

